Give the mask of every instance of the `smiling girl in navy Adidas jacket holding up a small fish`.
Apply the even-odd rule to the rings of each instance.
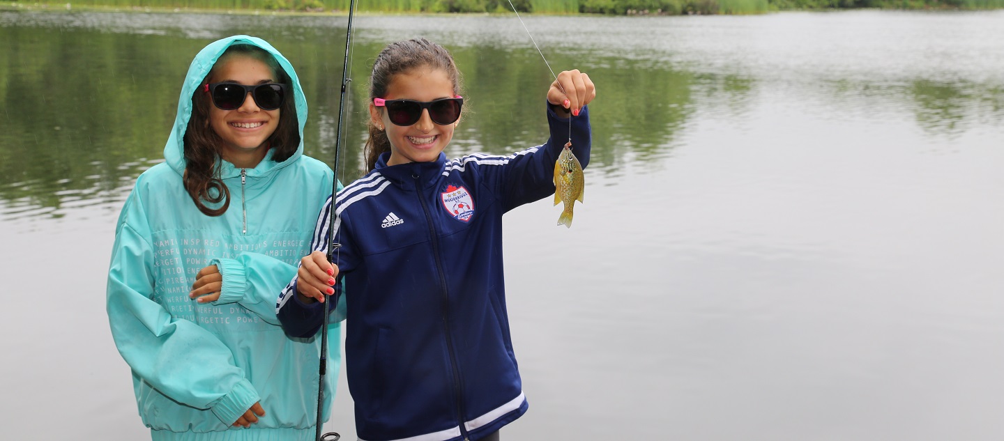
[[[463,98],[446,49],[425,39],[393,43],[374,60],[370,84],[370,171],[335,197],[341,247],[329,264],[329,198],[315,251],[279,297],[279,320],[290,336],[314,335],[320,303],[343,278],[351,287],[345,364],[358,437],[497,439],[527,410],[506,312],[502,214],[553,194],[569,118],[573,151],[588,163],[585,104],[595,89],[586,74],[563,71],[542,109],[546,143],[448,160],[443,149]]]

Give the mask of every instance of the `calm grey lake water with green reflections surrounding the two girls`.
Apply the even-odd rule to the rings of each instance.
[[[330,163],[345,17],[0,12],[5,439],[149,439],[104,313],[115,217],[188,63],[250,33]],[[530,411],[508,440],[1004,438],[1004,13],[524,16],[597,84],[585,202],[507,214]],[[387,42],[450,48],[448,153],[546,136],[514,16],[360,16],[344,176]],[[313,215],[312,213],[309,215]],[[354,439],[340,380],[332,421]]]

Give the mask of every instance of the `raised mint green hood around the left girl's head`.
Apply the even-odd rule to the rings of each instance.
[[[272,54],[272,57],[279,63],[279,66],[286,71],[292,83],[292,95],[296,102],[296,120],[300,132],[300,144],[297,145],[295,153],[282,162],[275,162],[272,160],[272,151],[270,150],[254,169],[247,170],[248,175],[266,174],[294,162],[303,154],[303,127],[307,121],[307,101],[303,96],[299,77],[296,76],[296,71],[293,70],[292,64],[278,50],[272,47],[271,44],[268,44],[267,41],[249,35],[234,35],[214,41],[199,51],[189,66],[188,74],[185,75],[185,83],[182,85],[181,96],[178,98],[178,114],[175,116],[175,125],[171,129],[171,136],[168,137],[167,145],[164,146],[164,158],[171,165],[171,168],[179,174],[184,174],[187,163],[185,160],[185,130],[188,128],[189,119],[192,118],[192,96],[199,86],[202,85],[202,80],[213,69],[213,65],[216,64],[216,60],[220,58],[220,55],[223,55],[223,52],[228,47],[235,44],[250,44],[264,49]],[[217,160],[222,162],[220,177],[226,178],[240,174],[240,170],[235,168],[230,162],[219,158]]]

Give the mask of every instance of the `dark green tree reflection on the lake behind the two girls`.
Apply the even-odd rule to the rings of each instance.
[[[220,21],[205,26],[215,19]],[[464,35],[478,35],[471,31],[485,24],[495,24],[497,34],[510,34],[499,27],[513,24],[494,18],[429,21],[443,20],[448,28],[464,29]],[[0,96],[9,127],[0,133],[5,158],[0,198],[11,205],[3,211],[6,217],[56,216],[69,201],[59,194],[67,191],[87,197],[128,188],[128,180],[150,165],[150,160],[137,158],[161,157],[183,66],[192,54],[206,39],[248,28],[297,65],[311,106],[307,154],[331,160],[341,69],[332,48],[344,45],[342,18],[6,12],[0,13],[0,39],[10,42],[0,49],[0,76],[5,78]],[[199,29],[216,30],[209,35]],[[542,140],[546,127],[540,95],[551,73],[536,50],[499,44],[494,38],[472,42],[454,41],[452,31],[437,35],[453,48],[471,112],[464,136],[455,139],[448,153],[501,153]],[[345,169],[340,170],[349,179],[362,172],[367,61],[384,44],[369,35],[353,46],[352,77],[357,81],[346,103]],[[668,154],[675,133],[693,112],[692,94],[699,86],[694,75],[615,57],[583,61],[561,47],[550,48],[550,63],[588,68],[593,80],[604,85],[604,105],[593,112],[596,148],[590,172],[616,173],[625,161],[648,162]]]

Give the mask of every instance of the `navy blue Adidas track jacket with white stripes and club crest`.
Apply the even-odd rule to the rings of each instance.
[[[547,114],[543,145],[393,166],[385,153],[338,191],[342,247],[333,260],[348,287],[345,364],[359,439],[476,440],[526,412],[506,313],[502,214],[554,193],[568,119]],[[572,118],[582,166],[590,143],[583,108]],[[312,246],[325,253],[330,203]],[[295,284],[279,297],[279,320],[290,336],[312,336],[323,305],[301,303]]]

